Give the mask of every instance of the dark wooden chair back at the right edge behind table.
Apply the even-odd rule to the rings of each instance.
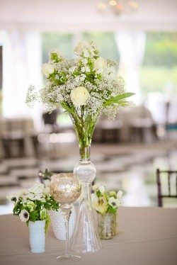
[[[166,184],[164,184],[164,181]],[[160,207],[163,206],[163,198],[177,199],[177,171],[156,169],[156,184],[158,191],[158,205]],[[163,191],[163,185],[166,186],[166,191]]]

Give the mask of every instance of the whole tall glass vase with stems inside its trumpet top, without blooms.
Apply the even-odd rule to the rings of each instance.
[[[90,147],[99,113],[92,116],[85,113],[84,107],[81,106],[76,116],[70,116],[76,130],[80,154],[80,160],[74,167],[74,174],[79,176],[84,191],[84,198],[81,198],[79,205],[72,249],[79,253],[97,252],[102,248],[102,244],[91,207],[91,183],[96,178],[96,167],[90,161]]]

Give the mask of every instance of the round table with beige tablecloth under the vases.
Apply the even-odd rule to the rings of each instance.
[[[102,240],[103,249],[82,254],[78,265],[176,265],[177,209],[130,208],[118,210],[117,237]],[[0,216],[1,265],[57,265],[64,242],[47,235],[45,252],[30,252],[28,227],[13,215]],[[71,263],[69,263],[71,264]]]

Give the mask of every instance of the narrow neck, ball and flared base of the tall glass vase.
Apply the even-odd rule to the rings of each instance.
[[[90,161],[90,147],[80,147],[81,159],[74,167],[84,191],[72,242],[72,249],[79,253],[97,252],[102,248],[91,207],[91,183],[96,178],[96,167]]]

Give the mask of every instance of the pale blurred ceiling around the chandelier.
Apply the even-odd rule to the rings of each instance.
[[[177,0],[137,0],[139,9],[122,16],[99,13],[98,1],[101,0],[0,0],[0,29],[177,32]]]

